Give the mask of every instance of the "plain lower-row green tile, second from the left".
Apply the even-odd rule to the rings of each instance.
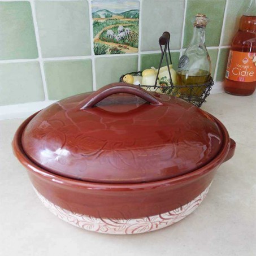
[[[93,90],[90,59],[45,62],[44,70],[49,99],[62,99]]]

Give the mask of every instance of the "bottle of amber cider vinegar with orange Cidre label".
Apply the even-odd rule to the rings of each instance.
[[[233,38],[225,72],[225,92],[238,96],[253,94],[256,88],[256,0],[240,19]]]

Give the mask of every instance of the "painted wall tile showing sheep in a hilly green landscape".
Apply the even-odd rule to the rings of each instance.
[[[92,1],[94,54],[138,51],[138,1]]]

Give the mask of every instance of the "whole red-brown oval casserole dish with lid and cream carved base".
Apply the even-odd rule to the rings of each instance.
[[[198,107],[116,83],[30,116],[12,146],[37,196],[60,219],[134,234],[195,210],[236,144]]]

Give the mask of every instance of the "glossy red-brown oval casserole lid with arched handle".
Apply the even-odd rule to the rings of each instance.
[[[209,163],[222,133],[210,115],[182,99],[115,83],[41,110],[21,143],[33,162],[61,176],[143,183]]]

